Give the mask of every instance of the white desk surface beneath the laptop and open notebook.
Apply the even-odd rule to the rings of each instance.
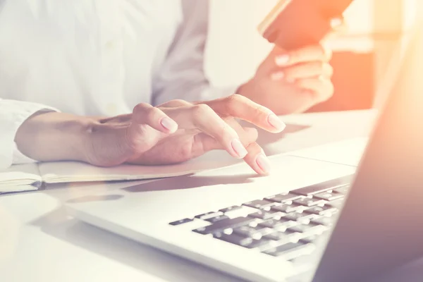
[[[260,140],[268,143],[268,154],[276,154],[366,136],[374,116],[368,111],[290,116],[286,123],[312,127],[285,137],[263,135]],[[288,131],[296,126],[288,126]],[[216,159],[233,162],[225,153],[214,152],[200,163],[214,166]],[[239,281],[71,219],[61,208],[61,202],[75,196],[125,185],[63,185],[0,197],[0,281]]]

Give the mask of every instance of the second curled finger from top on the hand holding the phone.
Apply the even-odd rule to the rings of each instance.
[[[294,82],[300,78],[315,78],[320,75],[331,78],[333,68],[329,63],[322,61],[312,61],[308,63],[298,63],[294,66],[288,66],[283,71],[276,71],[271,74],[272,80],[286,80]]]

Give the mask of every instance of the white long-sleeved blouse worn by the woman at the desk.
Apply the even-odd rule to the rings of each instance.
[[[27,161],[20,124],[41,109],[87,116],[213,99],[206,0],[0,0],[0,169]]]

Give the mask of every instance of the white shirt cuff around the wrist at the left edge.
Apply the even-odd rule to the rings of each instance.
[[[34,162],[18,150],[15,135],[20,125],[38,111],[56,111],[56,109],[32,102],[0,98],[0,171],[12,164]]]

